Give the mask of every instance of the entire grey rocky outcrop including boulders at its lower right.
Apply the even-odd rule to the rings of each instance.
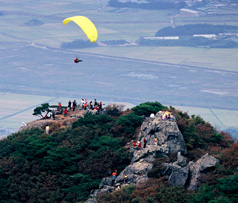
[[[144,146],[144,139],[147,140],[146,146]],[[164,155],[177,154],[177,161],[164,164],[163,171],[159,173],[167,175],[169,177],[168,181],[172,185],[185,186],[188,190],[196,190],[200,173],[218,163],[217,159],[208,154],[204,155],[196,163],[187,163],[186,158],[183,156],[187,153],[183,135],[178,129],[175,120],[162,119],[162,112],[157,113],[155,117],[144,120],[138,141],[141,142],[141,147],[133,146],[133,142],[131,143],[130,165],[116,177],[115,181],[112,177],[103,178],[99,189],[92,191],[92,198],[87,200],[87,203],[97,202],[96,197],[99,193],[112,192],[118,186],[125,184],[125,175],[128,177],[126,184],[137,185],[147,181],[148,172],[152,170],[153,161],[158,153]]]

